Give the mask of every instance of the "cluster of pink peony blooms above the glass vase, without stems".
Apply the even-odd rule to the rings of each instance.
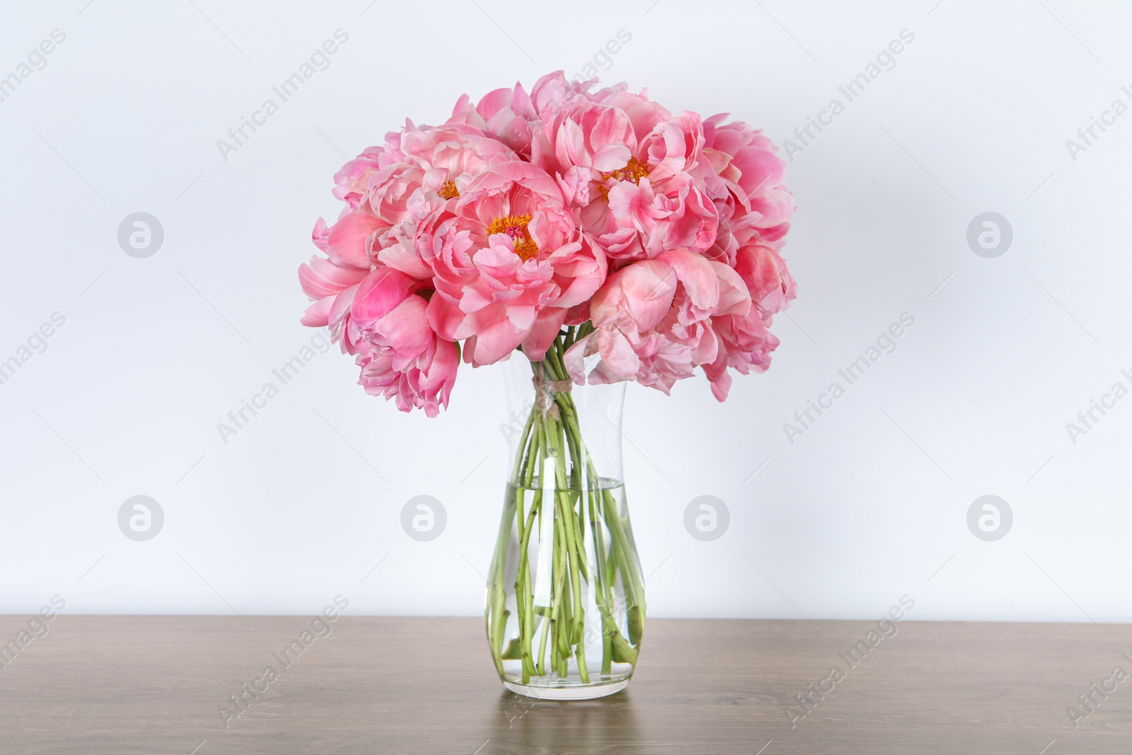
[[[779,251],[794,200],[774,144],[672,114],[624,84],[542,77],[465,95],[443,126],[386,135],[334,177],[326,254],[299,269],[361,385],[435,417],[461,361],[521,349],[575,383],[664,393],[703,367],[715,397],[770,364],[795,297]],[[594,355],[600,359],[588,359]]]

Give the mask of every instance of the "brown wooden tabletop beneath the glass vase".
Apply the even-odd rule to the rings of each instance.
[[[479,619],[342,616],[289,667],[311,618],[245,619],[58,616],[3,657],[0,753],[1132,752],[1132,678],[1106,681],[1130,626],[906,620],[852,667],[872,623],[652,619],[626,692],[546,703],[503,689]],[[27,621],[0,617],[2,642]],[[235,707],[245,683],[266,690]]]

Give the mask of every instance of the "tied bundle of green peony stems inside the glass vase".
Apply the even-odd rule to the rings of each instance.
[[[550,672],[565,678],[571,661],[577,663],[581,681],[590,683],[583,581],[591,593],[590,604],[598,611],[593,618],[602,636],[602,676],[611,674],[615,662],[636,663],[636,645],[643,629],[644,585],[633,556],[631,535],[626,532],[626,521],[620,516],[614,494],[601,487],[569,391],[543,385],[569,379],[564,354],[578,338],[592,332],[589,324],[567,328],[547,351],[543,361],[532,362],[534,381],[539,386],[537,403],[520,436],[512,471],[514,494],[504,512],[499,540],[506,543],[511,527],[515,527],[518,564],[514,610],[518,636],[506,647],[511,611],[503,590],[505,544],[497,548],[490,569],[487,630],[492,659],[500,676],[504,675],[504,659],[521,659],[524,684],[529,684],[532,676]],[[552,521],[546,522],[544,516]],[[539,580],[549,581],[549,607],[534,604],[535,585],[529,554],[532,535],[539,538],[543,526],[554,531],[552,542],[539,542],[540,548],[552,549],[549,573],[539,575]],[[628,638],[621,634],[616,619],[620,610],[615,606],[618,576],[626,601]]]

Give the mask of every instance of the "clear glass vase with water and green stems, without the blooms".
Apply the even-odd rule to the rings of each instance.
[[[507,368],[511,474],[486,623],[505,687],[586,700],[624,689],[644,632],[644,580],[621,475],[625,384],[575,386],[563,349]]]

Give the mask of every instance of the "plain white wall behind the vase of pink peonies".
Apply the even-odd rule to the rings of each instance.
[[[1132,386],[1132,114],[1075,161],[1065,144],[1132,104],[1123,3],[87,2],[14,5],[0,25],[0,76],[66,34],[0,102],[0,360],[66,317],[0,385],[0,612],[55,593],[74,612],[312,612],[336,593],[355,614],[479,612],[498,367],[463,368],[428,420],[331,352],[217,432],[311,337],[295,268],[344,155],[464,92],[578,72],[619,29],[603,80],[781,144],[907,28],[895,67],[789,166],[799,299],[771,371],[726,404],[703,378],[629,387],[650,611],[868,618],[909,593],[915,619],[1132,620],[1132,398],[1075,444],[1065,428]],[[338,28],[331,66],[223,160],[217,139]],[[147,259],[117,240],[135,212],[164,228]],[[1013,228],[1002,257],[967,243],[984,212]],[[906,311],[895,353],[789,443],[783,423]],[[135,495],[164,512],[146,542],[118,526]],[[430,542],[400,525],[418,495],[447,511]],[[702,495],[730,511],[713,542],[683,524]],[[1013,511],[995,542],[967,526],[983,495]]]

